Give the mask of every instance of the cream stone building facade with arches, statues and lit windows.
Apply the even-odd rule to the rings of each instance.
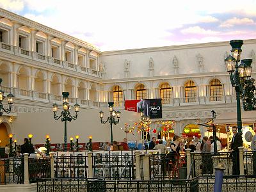
[[[161,120],[175,120],[177,134],[188,124],[209,120],[212,109],[217,115],[236,111],[224,62],[229,42],[101,52],[3,9],[0,40],[2,90],[15,95],[12,113],[0,121],[7,132],[14,129],[10,118],[19,113],[51,111],[53,103],[61,104],[61,92],[70,92],[70,103],[81,110],[104,108],[112,100],[124,109],[125,100],[162,98]],[[253,58],[255,78],[256,40],[244,40],[242,49],[242,58]]]

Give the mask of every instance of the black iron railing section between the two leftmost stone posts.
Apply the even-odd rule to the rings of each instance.
[[[28,159],[29,182],[36,182],[36,179],[51,178],[50,157],[29,157]]]

